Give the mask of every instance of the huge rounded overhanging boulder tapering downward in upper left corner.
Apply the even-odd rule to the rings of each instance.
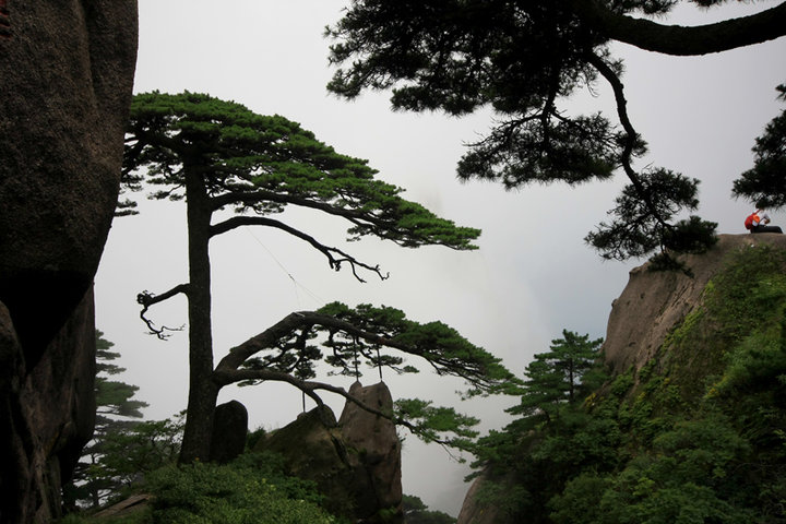
[[[117,203],[136,2],[19,0],[0,36],[0,300],[31,366],[93,282]]]

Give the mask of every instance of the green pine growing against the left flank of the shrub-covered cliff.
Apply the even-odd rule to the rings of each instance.
[[[474,448],[484,481],[477,498],[510,522],[548,523],[547,502],[567,478],[588,465],[612,467],[624,457],[616,422],[586,414],[586,401],[608,380],[602,340],[563,330],[548,352],[536,354],[525,371],[516,416]]]

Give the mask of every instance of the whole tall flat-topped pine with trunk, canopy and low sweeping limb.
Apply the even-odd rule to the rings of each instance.
[[[366,160],[336,153],[284,117],[260,116],[240,104],[195,93],[134,97],[127,129],[126,187],[159,186],[154,198],[184,198],[187,203],[188,282],[159,295],[144,291],[138,297],[143,320],[162,337],[167,329],[146,317],[148,308],[180,294],[188,300],[190,382],[181,461],[210,456],[215,403],[224,385],[279,380],[318,403],[317,390],[347,396],[343,389],[308,381],[314,377],[313,362],[322,358],[312,343],[319,331],[325,333],[323,345],[331,353],[325,360],[344,370],[360,357],[398,371],[413,370],[400,366],[401,357],[380,353],[390,347],[425,358],[439,373],[466,379],[475,391],[511,377],[499,359],[444,324],[420,325],[390,308],[350,309],[338,303],[287,315],[233,348],[214,368],[209,245],[218,235],[241,226],[274,228],[321,252],[331,269],[348,267],[360,282],[364,274],[386,275],[379,265],[329,247],[271,215],[299,207],[346,219],[353,240],[371,235],[410,248],[475,249],[472,242],[479,230],[458,227],[404,200],[401,188],[374,179],[374,174]],[[234,213],[218,215],[227,209]],[[272,354],[257,357],[267,350]]]

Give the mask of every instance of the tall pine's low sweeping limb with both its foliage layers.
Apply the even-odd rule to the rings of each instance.
[[[323,353],[324,349],[324,353]],[[391,355],[391,352],[396,354]],[[501,359],[463,337],[442,322],[419,323],[390,307],[332,302],[318,311],[290,313],[264,332],[231,348],[216,366],[212,380],[226,385],[283,381],[300,389],[318,404],[319,392],[337,393],[364,409],[391,418],[426,442],[469,449],[478,424],[453,408],[432,406],[418,398],[401,398],[393,413],[364,405],[342,388],[317,382],[315,365],[323,360],[337,371],[359,379],[362,370],[417,372],[404,357],[419,357],[439,376],[463,379],[466,396],[517,392],[520,381]],[[361,365],[365,365],[361,367]]]

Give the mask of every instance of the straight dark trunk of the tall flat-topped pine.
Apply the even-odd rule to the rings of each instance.
[[[189,401],[180,462],[210,456],[218,385],[213,380],[210,222],[212,210],[199,172],[186,169],[189,236]]]

